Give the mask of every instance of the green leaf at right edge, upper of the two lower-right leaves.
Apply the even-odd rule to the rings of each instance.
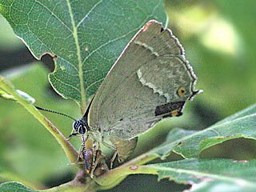
[[[174,152],[184,158],[196,158],[210,146],[234,138],[252,138],[256,140],[256,105],[250,106],[210,126],[182,138],[182,142],[174,147]]]

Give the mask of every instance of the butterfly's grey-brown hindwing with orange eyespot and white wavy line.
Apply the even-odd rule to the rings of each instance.
[[[158,66],[155,62],[162,67],[154,67]],[[99,121],[103,136],[134,138],[149,130],[162,116],[170,115],[171,110],[181,112],[185,101],[191,96],[189,92],[182,97],[177,94],[180,86],[190,89],[190,81],[186,79],[190,78],[190,72],[181,62],[184,61],[178,57],[154,59],[118,86],[118,90],[102,102],[103,110],[99,113]],[[179,75],[179,71],[186,75]],[[155,81],[162,84],[160,87],[166,87],[166,92],[165,89],[158,89]],[[166,103],[181,105],[157,114],[158,106]]]

